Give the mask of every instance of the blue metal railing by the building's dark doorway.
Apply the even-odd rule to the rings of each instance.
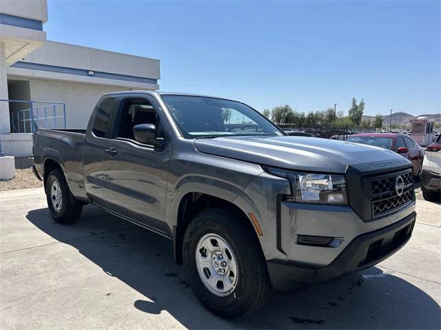
[[[13,133],[33,133],[39,127],[66,128],[66,104],[64,102],[0,99],[1,101],[25,103],[30,106],[28,109],[10,111],[10,125]],[[36,107],[38,103],[44,103],[44,105]],[[61,120],[57,120],[58,118]]]

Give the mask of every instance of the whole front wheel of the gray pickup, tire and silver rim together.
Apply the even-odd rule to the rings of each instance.
[[[209,311],[237,318],[265,303],[271,284],[254,229],[234,210],[207,209],[187,227],[185,272]]]

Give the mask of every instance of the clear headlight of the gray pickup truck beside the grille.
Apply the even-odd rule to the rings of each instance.
[[[287,196],[287,200],[300,203],[347,205],[345,176],[292,172],[268,166],[263,166],[263,169],[269,174],[289,180],[292,195]]]

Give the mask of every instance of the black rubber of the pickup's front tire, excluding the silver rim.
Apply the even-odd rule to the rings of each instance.
[[[238,318],[262,307],[272,288],[267,265],[254,228],[229,209],[207,209],[194,217],[185,231],[183,263],[189,284],[209,311],[223,318]],[[237,263],[237,284],[228,296],[217,296],[198,274],[196,247],[207,234],[216,234],[231,247]]]

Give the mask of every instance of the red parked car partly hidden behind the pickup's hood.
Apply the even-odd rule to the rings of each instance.
[[[401,154],[413,163],[415,180],[421,181],[424,148],[420,147],[410,136],[395,133],[362,133],[353,134],[346,141],[374,145]]]

